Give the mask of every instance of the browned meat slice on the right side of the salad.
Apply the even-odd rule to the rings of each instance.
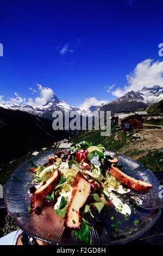
[[[144,181],[136,180],[135,178],[124,174],[124,172],[119,170],[117,167],[110,166],[109,172],[112,176],[116,177],[123,184],[137,191],[145,192],[147,189],[152,188],[152,184],[149,184]]]

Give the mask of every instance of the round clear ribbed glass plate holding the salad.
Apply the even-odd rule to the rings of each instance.
[[[74,236],[74,231],[67,230],[64,227],[64,219],[55,215],[55,201],[43,200],[40,203],[42,214],[36,215],[30,213],[28,207],[30,200],[28,190],[34,186],[32,183],[32,172],[28,168],[43,165],[48,162],[48,157],[52,156],[55,151],[49,151],[39,154],[36,157],[24,162],[11,175],[4,187],[4,201],[9,215],[15,219],[15,223],[24,230],[28,235],[42,241],[48,241],[54,245],[86,245],[84,242]],[[67,151],[67,148],[59,148]],[[93,225],[90,231],[91,245],[119,245],[137,239],[145,233],[158,220],[161,215],[160,208],[162,204],[162,188],[155,175],[142,164],[112,151],[106,151],[110,156],[116,156],[120,159],[119,163],[124,164],[123,171],[130,176],[152,183],[152,189],[145,193],[131,190],[127,193],[126,200],[123,195],[118,197],[127,203],[131,208],[131,215],[124,216],[115,210],[112,204],[105,205],[98,214],[93,210],[92,218],[89,213],[85,219]],[[137,199],[141,200],[141,204]],[[114,217],[111,218],[111,217]],[[135,224],[134,221],[139,221]]]

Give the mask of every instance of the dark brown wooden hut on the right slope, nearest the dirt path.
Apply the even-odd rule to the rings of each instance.
[[[123,132],[127,132],[128,130],[134,129],[142,129],[143,128],[143,119],[137,115],[131,115],[124,117],[120,120],[121,129]]]

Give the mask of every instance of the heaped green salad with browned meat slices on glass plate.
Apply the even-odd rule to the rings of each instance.
[[[40,202],[55,199],[54,214],[63,219],[65,228],[74,230],[78,239],[90,244],[93,227],[86,221],[86,214],[94,218],[94,211],[101,214],[105,205],[112,204],[127,218],[131,209],[115,192],[126,194],[131,189],[146,192],[152,187],[126,175],[123,164],[118,162],[117,157],[106,153],[103,145],[87,141],[73,144],[66,152],[57,150],[46,164],[29,169],[33,172],[34,186],[29,189],[32,199],[28,210],[39,215]]]

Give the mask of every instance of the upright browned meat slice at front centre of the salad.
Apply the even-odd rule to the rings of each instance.
[[[65,217],[65,227],[78,229],[80,227],[80,208],[85,204],[91,192],[91,184],[78,172],[73,181],[73,190],[70,205],[68,205]]]

